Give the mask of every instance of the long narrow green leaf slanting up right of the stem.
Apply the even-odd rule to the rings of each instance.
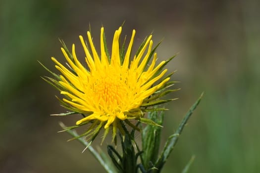
[[[158,172],[160,172],[160,170],[162,169],[163,165],[165,164],[167,158],[169,157],[171,151],[173,150],[175,144],[177,143],[178,139],[179,139],[179,135],[181,134],[184,126],[186,125],[187,121],[189,120],[189,118],[191,117],[193,111],[196,109],[196,107],[199,105],[201,99],[202,99],[203,93],[201,94],[201,96],[199,97],[199,99],[192,105],[192,107],[190,108],[190,110],[187,112],[187,114],[184,116],[184,118],[182,119],[182,122],[180,123],[177,131],[170,135],[168,137],[168,140],[166,141],[163,150],[160,154],[159,159],[156,162],[156,168],[158,169]]]

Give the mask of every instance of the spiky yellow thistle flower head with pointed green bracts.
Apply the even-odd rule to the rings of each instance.
[[[158,44],[152,49],[152,35],[145,39],[137,53],[131,56],[135,30],[124,53],[125,41],[122,48],[119,45],[121,30],[122,28],[119,27],[114,33],[111,57],[107,51],[102,27],[100,56],[94,47],[90,32],[87,32],[90,48],[83,37],[79,36],[86,54],[87,68],[79,62],[75,45],[72,45],[72,53],[70,53],[64,43],[61,51],[68,62],[68,67],[52,57],[56,69],[62,75],[56,75],[44,66],[54,76],[54,79],[49,77],[44,79],[64,96],[63,99],[58,98],[61,105],[72,111],[58,115],[80,113],[84,116],[76,122],[76,126],[69,127],[67,130],[91,123],[88,130],[79,136],[90,136],[90,141],[95,139],[103,127],[103,140],[109,129],[112,130],[112,140],[115,139],[118,130],[124,136],[124,124],[138,130],[138,127],[129,121],[130,119],[156,125],[152,120],[144,118],[144,112],[163,110],[153,106],[172,100],[159,98],[173,91],[166,89],[173,84],[168,82],[173,73],[164,77],[167,69],[163,70],[173,57],[156,66],[155,49]],[[150,60],[151,63],[148,65]]]

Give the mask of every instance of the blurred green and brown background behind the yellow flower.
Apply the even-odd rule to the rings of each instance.
[[[180,173],[193,154],[190,173],[260,173],[260,1],[259,0],[1,0],[0,1],[0,173],[104,173],[90,152],[70,136],[56,133],[51,117],[65,112],[58,92],[40,76],[63,61],[58,38],[81,46],[91,24],[99,46],[125,20],[122,36],[136,29],[135,46],[153,32],[159,60],[180,52],[169,71],[182,89],[166,105],[163,137],[202,91],[205,95],[163,173]],[[141,140],[141,136],[137,135]],[[95,143],[94,146],[98,146]],[[103,144],[105,147],[105,144]]]

